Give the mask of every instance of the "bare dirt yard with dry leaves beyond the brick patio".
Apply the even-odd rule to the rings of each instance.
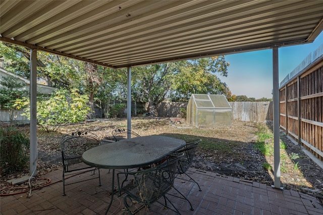
[[[191,127],[182,123],[171,124],[170,118],[134,117],[132,130],[145,135],[167,135],[182,138],[186,141],[200,138],[193,167],[200,171],[216,172],[220,175],[233,176],[240,179],[257,181],[267,185],[273,184],[274,155],[263,156],[255,144],[258,140],[256,132],[259,126],[270,130],[271,124],[233,121],[232,126],[216,128]],[[60,138],[69,132],[86,130],[97,134],[100,138],[111,136],[115,128],[126,128],[126,119],[93,120],[80,124],[62,126],[57,132],[46,133],[38,130],[38,176],[62,167]],[[19,129],[29,132],[29,126]],[[281,139],[285,148],[281,149],[281,184],[284,189],[293,189],[312,194],[323,199],[323,170],[314,163],[300,146],[296,146],[284,133]],[[273,144],[273,139],[265,140]],[[264,168],[264,163],[271,168]],[[1,177],[1,188],[8,186],[11,178],[28,175],[28,170]]]

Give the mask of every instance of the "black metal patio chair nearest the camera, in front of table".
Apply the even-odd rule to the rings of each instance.
[[[169,209],[180,214],[166,194],[174,187],[174,179],[181,156],[183,154],[172,155],[164,163],[150,169],[117,174],[119,189],[125,193],[124,206],[126,213],[134,214],[142,207],[149,207],[154,202],[167,207],[168,201],[173,206],[173,208]],[[133,179],[125,186],[120,187],[121,175],[131,175]],[[161,197],[164,197],[164,203],[158,201]],[[135,205],[134,201],[140,202],[141,205]],[[133,210],[132,207],[134,207]]]

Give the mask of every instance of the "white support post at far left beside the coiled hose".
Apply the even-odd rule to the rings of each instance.
[[[30,176],[37,174],[37,49],[30,50]]]

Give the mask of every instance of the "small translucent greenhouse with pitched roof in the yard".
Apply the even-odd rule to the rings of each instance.
[[[196,127],[231,126],[231,106],[224,95],[192,94],[186,121]]]

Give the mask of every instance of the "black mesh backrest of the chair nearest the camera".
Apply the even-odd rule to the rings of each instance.
[[[158,166],[130,173],[134,176],[134,180],[130,186],[126,185],[122,189],[145,204],[155,202],[174,186],[178,162],[182,156],[183,153],[172,155]]]

